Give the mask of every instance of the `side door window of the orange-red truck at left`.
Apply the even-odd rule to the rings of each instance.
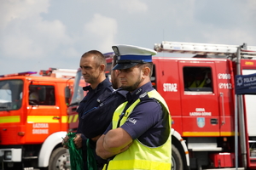
[[[55,105],[55,87],[30,85],[29,105]]]

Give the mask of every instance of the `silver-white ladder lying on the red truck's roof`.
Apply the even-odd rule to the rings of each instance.
[[[169,52],[180,54],[201,54],[201,55],[236,55],[237,49],[241,49],[242,57],[256,57],[256,47],[247,46],[246,43],[241,46],[194,43],[194,42],[167,42],[154,44],[154,50],[157,52]]]

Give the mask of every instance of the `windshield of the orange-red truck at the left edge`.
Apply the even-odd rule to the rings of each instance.
[[[0,81],[0,111],[19,110],[22,102],[22,80]]]

